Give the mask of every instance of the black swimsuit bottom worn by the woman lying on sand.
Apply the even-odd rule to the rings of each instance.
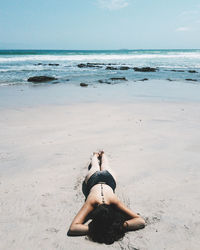
[[[107,184],[115,191],[116,188],[116,182],[113,176],[107,171],[96,171],[92,176],[90,176],[87,183],[84,181],[82,185],[82,191],[85,195],[85,198],[88,197],[91,188],[96,184]]]

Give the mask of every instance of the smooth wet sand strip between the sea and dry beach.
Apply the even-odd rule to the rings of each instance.
[[[200,102],[197,83],[167,80],[118,84],[30,84],[0,88],[0,107],[37,107],[80,103]]]

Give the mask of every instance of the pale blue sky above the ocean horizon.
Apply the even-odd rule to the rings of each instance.
[[[199,0],[0,0],[2,49],[200,48]]]

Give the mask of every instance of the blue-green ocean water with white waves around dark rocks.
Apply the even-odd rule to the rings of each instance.
[[[98,63],[99,67],[79,68],[78,64]],[[58,65],[49,65],[58,64]],[[106,70],[107,66],[117,68]],[[128,66],[128,70],[120,70]],[[156,67],[156,72],[136,72],[133,67]],[[195,70],[196,73],[190,73]],[[0,50],[0,87],[31,85],[32,76],[54,76],[47,84],[124,84],[112,77],[125,77],[128,82],[148,80],[185,81],[200,84],[200,50]],[[107,83],[99,83],[103,80]]]

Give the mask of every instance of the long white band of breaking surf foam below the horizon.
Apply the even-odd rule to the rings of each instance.
[[[200,59],[200,53],[169,53],[169,54],[94,54],[94,55],[28,55],[0,57],[0,62],[24,61],[88,61],[88,60],[131,60],[131,59]]]

